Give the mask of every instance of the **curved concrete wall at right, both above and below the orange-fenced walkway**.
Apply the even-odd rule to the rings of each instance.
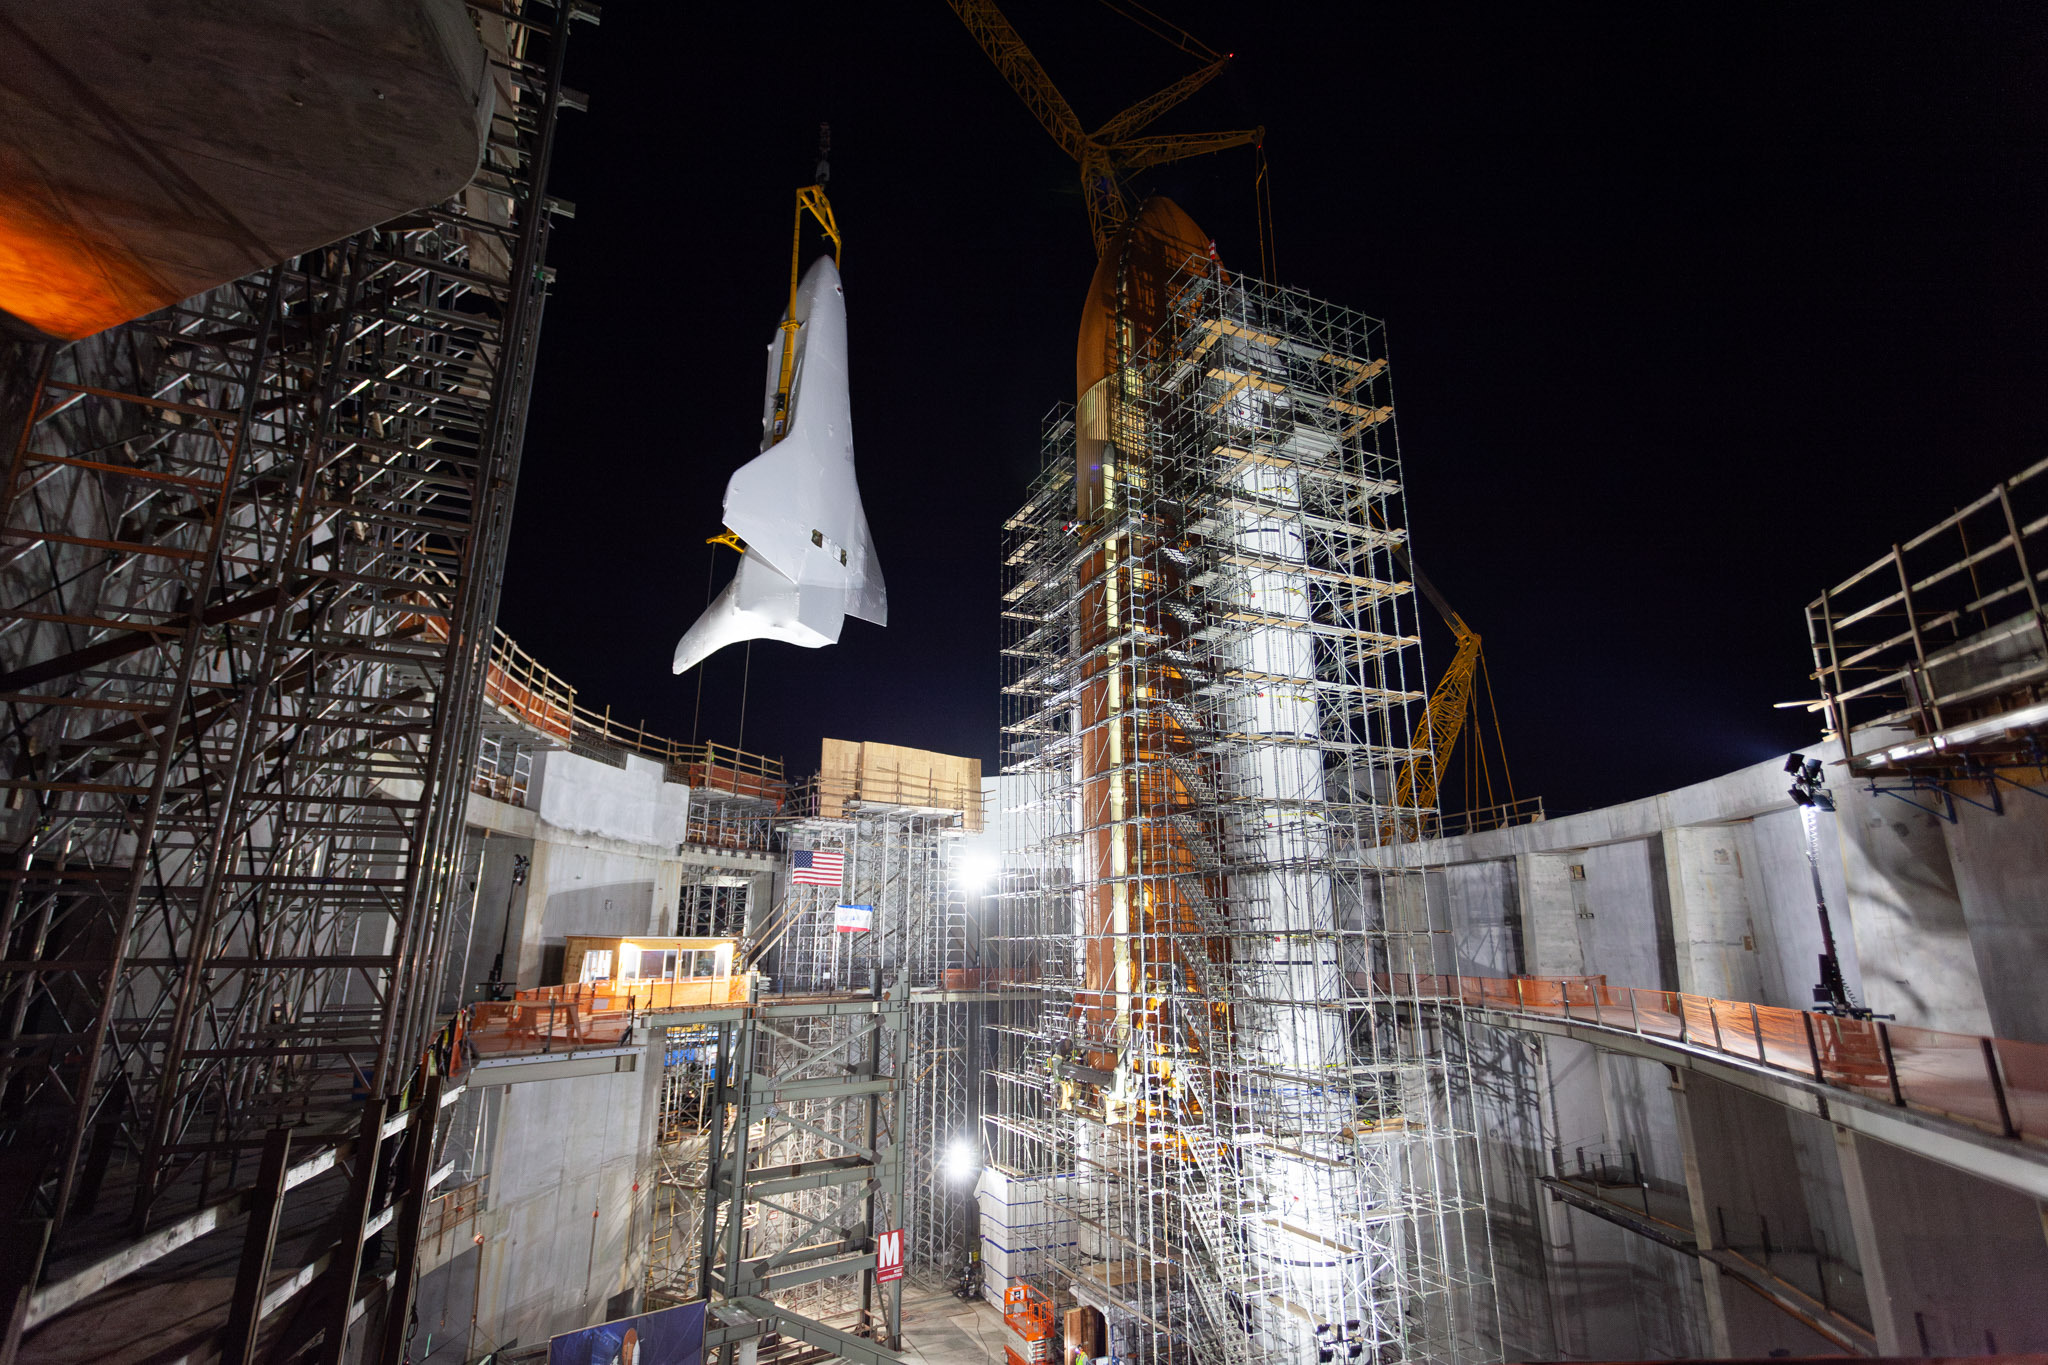
[[[1903,1023],[2048,1038],[2048,802],[1915,806],[1829,778],[1819,876],[1851,990]],[[1810,1007],[1821,931],[1786,786],[1778,759],[1415,849],[1430,923],[1450,931],[1436,970]],[[1509,1359],[1839,1353],[1710,1263],[1552,1199],[1540,1177],[1581,1150],[1640,1169],[1710,1244],[1761,1259],[1767,1240],[1776,1273],[1825,1283],[1888,1353],[2042,1349],[2032,1199],[1700,1076],[1679,1089],[1653,1062],[1505,1033],[1473,1046]]]

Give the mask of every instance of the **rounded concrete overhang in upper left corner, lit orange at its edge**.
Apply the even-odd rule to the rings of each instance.
[[[0,321],[59,340],[449,199],[494,102],[459,0],[6,4],[0,72]]]

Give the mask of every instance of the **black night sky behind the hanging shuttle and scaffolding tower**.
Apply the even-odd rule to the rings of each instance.
[[[1415,559],[1550,812],[1808,743],[1772,708],[1812,694],[1804,604],[2048,452],[2038,6],[1155,6],[1237,53],[1157,131],[1266,125],[1278,280],[1386,319]],[[1194,68],[1090,0],[1008,12],[1090,127]],[[938,0],[618,2],[573,43],[500,622],[690,739],[668,661],[760,440],[823,119],[891,624],[758,641],[745,747],[993,772],[999,524],[1094,268],[1071,162]],[[1139,188],[1255,270],[1251,176]],[[707,665],[698,737],[741,737],[743,667]]]

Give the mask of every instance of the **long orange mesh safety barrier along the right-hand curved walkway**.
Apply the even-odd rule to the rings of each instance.
[[[1548,1015],[1720,1052],[2021,1142],[2048,1144],[2048,1044],[1841,1019],[1606,976],[1376,974],[1401,999]]]

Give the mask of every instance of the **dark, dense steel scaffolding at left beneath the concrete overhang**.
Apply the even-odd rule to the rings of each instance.
[[[0,1121],[53,1261],[350,1138],[438,1025],[573,10],[477,6],[457,199],[16,352]]]

